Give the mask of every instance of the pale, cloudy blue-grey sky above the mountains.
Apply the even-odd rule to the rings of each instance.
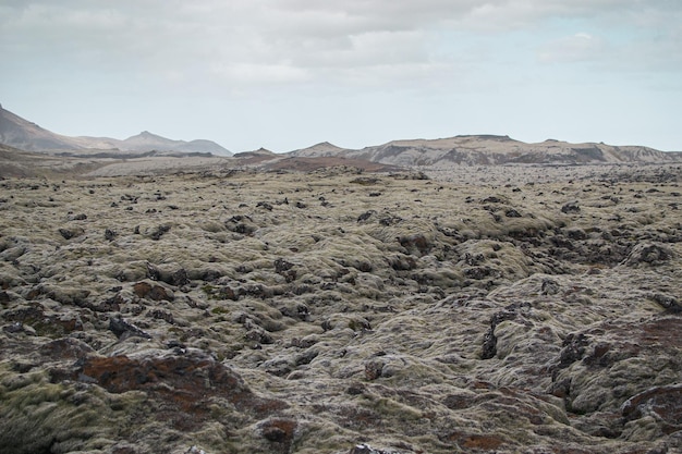
[[[0,59],[2,106],[65,135],[682,150],[680,0],[2,0]]]

